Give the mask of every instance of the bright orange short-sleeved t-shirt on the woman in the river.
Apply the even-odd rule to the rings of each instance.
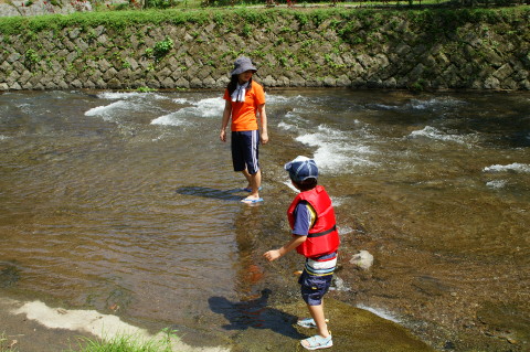
[[[257,127],[257,107],[265,104],[265,92],[256,83],[252,83],[251,89],[246,90],[245,102],[232,102],[229,89],[224,90],[223,99],[232,103],[232,131],[252,131]]]

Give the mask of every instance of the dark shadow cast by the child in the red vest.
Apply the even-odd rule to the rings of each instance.
[[[267,308],[269,289],[264,289],[262,296],[254,300],[232,302],[224,297],[211,297],[208,302],[210,309],[223,314],[230,324],[225,330],[268,329],[293,339],[304,338],[294,327],[296,317],[284,311]]]

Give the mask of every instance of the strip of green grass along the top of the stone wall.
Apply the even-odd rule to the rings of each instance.
[[[227,29],[237,28],[241,23],[248,25],[263,25],[275,21],[276,17],[293,18],[298,28],[310,22],[318,26],[330,18],[332,26],[340,29],[342,33],[354,32],[364,26],[372,26],[377,23],[384,25],[386,18],[396,15],[404,17],[417,26],[438,28],[446,24],[446,28],[455,28],[462,23],[491,23],[509,20],[519,17],[522,20],[530,14],[530,7],[516,7],[506,9],[423,9],[423,10],[385,10],[382,15],[377,9],[351,9],[351,8],[324,8],[304,10],[304,12],[290,9],[204,9],[202,11],[183,11],[181,9],[168,10],[145,10],[145,11],[105,11],[105,12],[76,12],[70,15],[47,14],[39,17],[8,17],[0,18],[0,32],[3,35],[25,33],[26,36],[34,35],[43,30],[59,33],[65,28],[80,28],[91,33],[94,28],[105,25],[106,28],[120,31],[130,25],[151,24],[193,24],[214,22],[223,24]],[[251,28],[243,26],[243,34],[248,35]]]

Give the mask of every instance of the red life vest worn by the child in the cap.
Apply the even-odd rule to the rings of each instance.
[[[324,186],[317,185],[312,190],[300,192],[295,198],[287,210],[290,228],[295,228],[295,209],[300,201],[311,204],[317,213],[317,218],[309,230],[307,239],[296,247],[296,250],[308,258],[336,252],[339,248],[340,238],[331,199]]]

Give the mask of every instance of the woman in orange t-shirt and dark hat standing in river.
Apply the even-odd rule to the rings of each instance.
[[[242,56],[234,62],[234,71],[223,96],[225,105],[219,135],[221,141],[226,141],[226,127],[232,117],[232,162],[234,171],[241,171],[246,178],[247,185],[243,190],[250,192],[242,200],[244,203],[263,202],[259,198],[262,171],[258,145],[259,141],[263,145],[268,142],[265,93],[258,83],[252,81],[256,71],[248,57]]]

